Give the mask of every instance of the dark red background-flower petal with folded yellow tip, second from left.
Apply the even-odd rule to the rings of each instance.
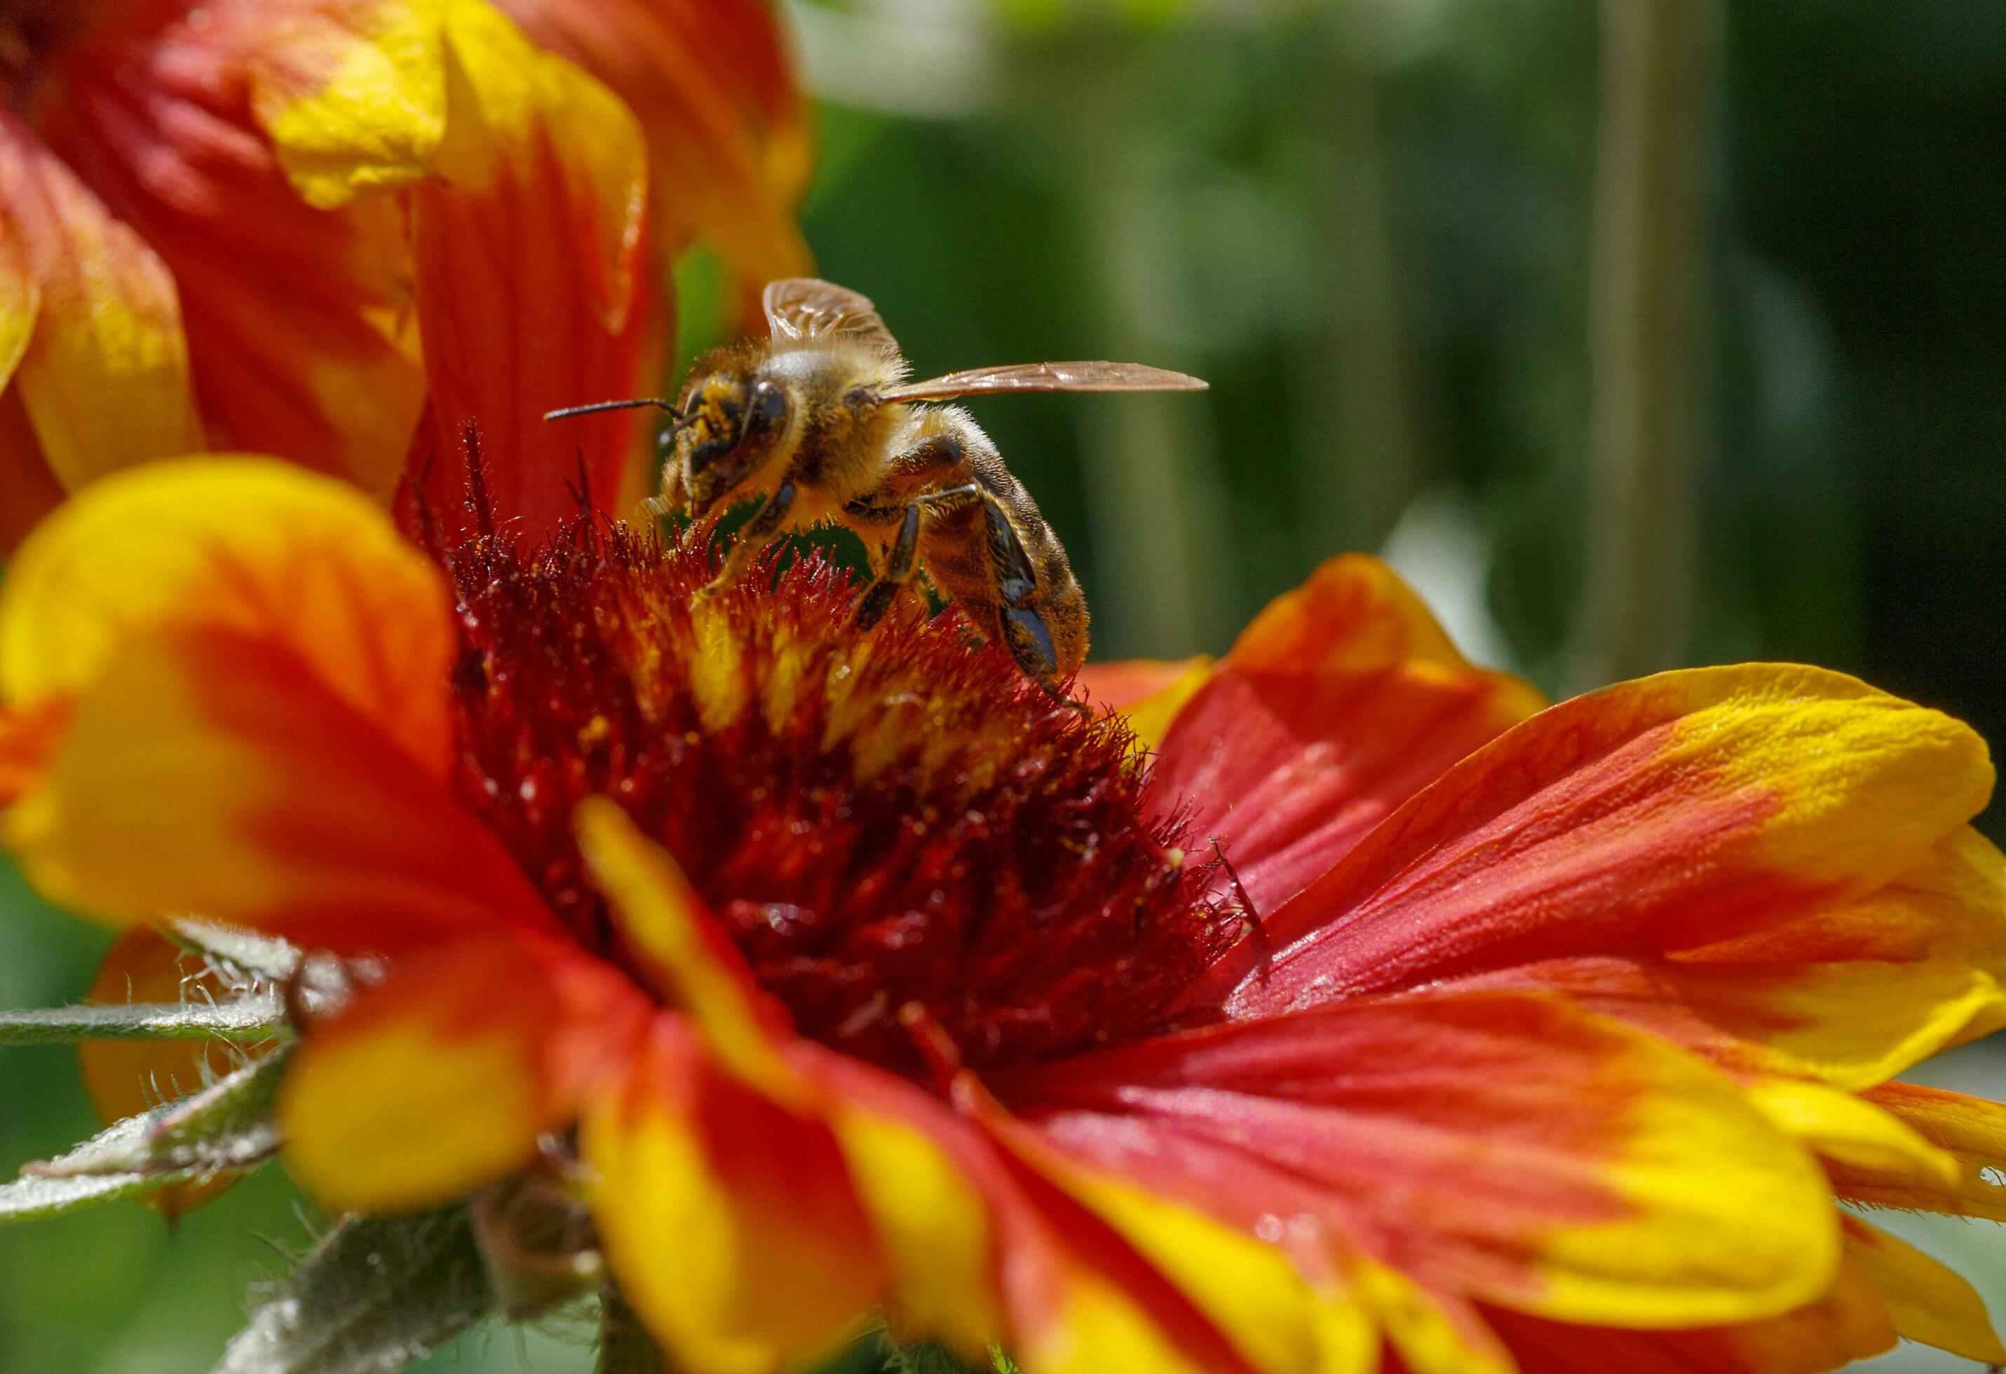
[[[429,60],[421,34],[401,44],[403,76],[385,56],[399,48],[391,12],[411,8],[154,8],[66,46],[36,102],[56,152],[173,269],[211,445],[279,453],[379,497],[425,385],[407,223],[387,197],[315,209],[301,195],[333,205],[407,179],[437,144],[437,16]],[[427,96],[411,86],[427,74],[429,134],[391,116],[421,112]],[[361,100],[345,118],[343,88],[349,106]]]

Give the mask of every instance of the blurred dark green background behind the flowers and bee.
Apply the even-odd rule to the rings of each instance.
[[[2006,740],[1998,0],[794,16],[810,243],[923,373],[1214,383],[977,407],[1097,656],[1224,650],[1364,548],[1551,692],[1809,660]],[[0,879],[0,1005],[78,997],[100,945]],[[1988,1045],[1918,1077],[2006,1095]],[[66,1051],[0,1049],[0,1169],[90,1125]],[[0,1372],[207,1370],[299,1208],[267,1171],[173,1236],[136,1206],[0,1230]],[[1902,1228],[2006,1302],[1992,1226]],[[588,1366],[576,1334],[479,1332],[425,1368]]]

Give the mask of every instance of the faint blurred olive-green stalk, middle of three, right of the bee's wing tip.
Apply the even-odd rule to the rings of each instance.
[[[1406,337],[1386,205],[1378,74],[1338,12],[1322,18],[1324,84],[1310,116],[1324,329],[1296,353],[1296,491],[1310,564],[1376,550],[1420,481]]]

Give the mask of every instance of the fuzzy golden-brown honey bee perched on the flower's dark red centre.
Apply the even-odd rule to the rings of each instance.
[[[704,520],[740,499],[716,580],[728,588],[790,530],[847,526],[871,552],[857,624],[875,626],[925,576],[1045,690],[1087,656],[1087,600],[1037,501],[959,405],[1003,391],[1198,391],[1204,381],[1139,363],[1017,363],[909,381],[869,299],[790,277],[764,293],[768,339],[700,357],[674,403],[602,401],[546,419],[632,405],[670,413],[660,505]]]

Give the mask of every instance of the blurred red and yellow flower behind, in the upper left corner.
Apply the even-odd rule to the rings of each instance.
[[[536,417],[652,379],[692,239],[804,267],[800,102],[756,2],[504,8],[546,48],[483,0],[0,14],[0,542],[203,449],[457,493],[469,421],[528,522],[626,479],[628,417]]]

